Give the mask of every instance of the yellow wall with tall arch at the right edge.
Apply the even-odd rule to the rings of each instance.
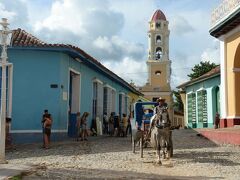
[[[240,68],[240,32],[225,42],[228,116],[240,116],[240,72],[233,72],[233,68]]]

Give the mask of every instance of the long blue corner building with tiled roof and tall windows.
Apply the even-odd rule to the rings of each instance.
[[[90,113],[90,128],[103,112],[129,114],[134,101],[129,94],[141,95],[78,47],[47,44],[21,29],[11,42],[7,116],[16,141],[41,140],[44,109],[53,116],[54,137],[73,136],[78,111]]]

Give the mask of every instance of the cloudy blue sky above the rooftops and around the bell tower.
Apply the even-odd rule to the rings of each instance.
[[[127,82],[147,82],[148,22],[160,9],[169,21],[171,86],[189,80],[200,61],[219,64],[209,34],[221,0],[0,0],[0,18],[47,43],[76,45]]]

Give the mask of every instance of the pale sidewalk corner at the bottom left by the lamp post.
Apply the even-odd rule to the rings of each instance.
[[[9,179],[14,176],[21,176],[35,170],[34,166],[20,164],[0,164],[0,179]]]

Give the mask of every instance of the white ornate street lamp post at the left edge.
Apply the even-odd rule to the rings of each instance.
[[[2,89],[1,89],[1,112],[0,112],[0,163],[5,163],[5,126],[6,126],[6,66],[7,66],[7,46],[10,44],[8,35],[11,31],[8,29],[8,22],[6,18],[2,18],[0,22],[2,30],[0,30],[1,38],[1,61],[2,66]]]

